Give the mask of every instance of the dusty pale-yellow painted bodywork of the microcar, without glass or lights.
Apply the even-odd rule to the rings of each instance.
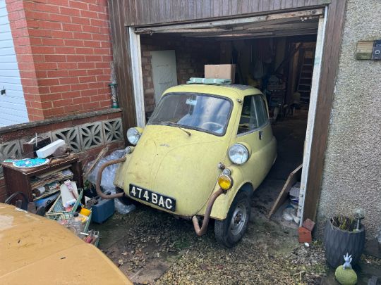
[[[217,178],[222,170],[219,163],[234,169],[234,186],[226,195],[219,196],[212,209],[212,217],[223,220],[240,187],[248,183],[254,190],[265,178],[276,158],[276,141],[270,125],[261,129],[263,140],[253,144],[252,156],[244,165],[233,165],[227,157],[235,143],[250,142],[251,136],[237,136],[244,96],[261,94],[258,89],[237,89],[216,85],[186,84],[171,87],[165,94],[184,92],[222,96],[232,103],[226,132],[217,136],[199,130],[170,125],[147,125],[133,153],[120,165],[114,184],[124,189],[127,196],[130,184],[176,199],[176,210],[166,210],[147,201],[138,200],[153,208],[175,215],[191,217],[204,215],[207,200],[219,189]],[[133,198],[133,197],[131,197]],[[135,198],[133,198],[135,199]]]

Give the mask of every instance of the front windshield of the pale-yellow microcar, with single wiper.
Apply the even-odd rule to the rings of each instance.
[[[223,135],[231,101],[219,96],[170,93],[159,101],[147,125],[169,125]]]

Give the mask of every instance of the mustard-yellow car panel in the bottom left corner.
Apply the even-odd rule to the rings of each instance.
[[[58,222],[0,203],[0,284],[132,284]]]

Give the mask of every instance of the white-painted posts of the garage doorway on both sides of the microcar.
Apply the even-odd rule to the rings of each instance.
[[[243,23],[250,23],[251,18],[231,19],[224,20],[226,23],[234,23],[240,21]],[[222,21],[216,20],[208,23],[215,23],[219,25]],[[185,27],[190,24],[183,24]],[[316,51],[315,51],[315,63],[313,67],[313,80],[310,92],[310,107],[308,110],[308,121],[306,130],[306,140],[304,142],[303,151],[303,170],[301,174],[301,191],[299,196],[298,216],[301,217],[301,223],[303,222],[303,206],[304,198],[306,197],[306,184],[308,182],[308,170],[310,167],[310,153],[313,141],[313,129],[315,127],[315,115],[317,95],[320,85],[320,72],[322,69],[322,51],[325,43],[325,27],[327,25],[327,7],[325,8],[324,17],[319,19],[317,28],[316,39]],[[180,26],[180,25],[179,25]],[[144,93],[143,93],[143,77],[142,77],[142,65],[141,65],[141,53],[140,53],[140,35],[135,32],[135,27],[128,27],[130,36],[130,54],[132,64],[132,77],[133,77],[133,92],[135,98],[136,108],[136,120],[138,127],[145,126],[145,109],[144,109]]]

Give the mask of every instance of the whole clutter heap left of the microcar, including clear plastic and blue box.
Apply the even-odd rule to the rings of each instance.
[[[84,172],[79,157],[71,153],[65,141],[51,141],[49,137],[37,137],[36,134],[23,144],[22,159],[8,159],[2,163],[8,193],[23,197],[25,201],[15,203],[23,210],[56,220],[85,242],[97,246],[99,232],[89,230],[90,222],[106,221],[114,215],[115,209],[121,214],[135,209],[128,201],[122,203],[118,199],[97,196],[94,185],[100,165],[126,154],[124,150],[117,150],[104,157],[107,151],[106,146]],[[117,191],[113,183],[116,167],[111,165],[102,174],[104,193]]]

